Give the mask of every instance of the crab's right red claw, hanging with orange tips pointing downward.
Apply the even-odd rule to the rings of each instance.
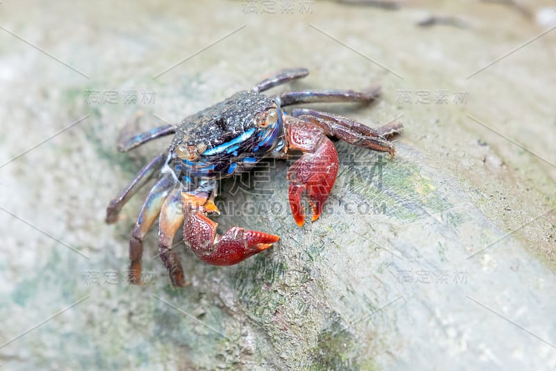
[[[297,149],[303,155],[288,170],[289,199],[297,225],[305,222],[302,197],[307,194],[314,222],[322,213],[338,174],[336,147],[319,127],[295,117],[285,117],[286,151]]]

